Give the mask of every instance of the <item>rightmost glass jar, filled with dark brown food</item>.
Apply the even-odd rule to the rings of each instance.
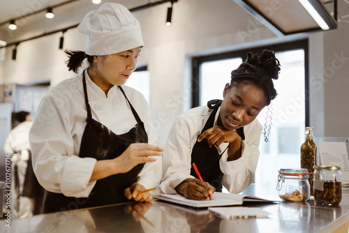
[[[314,166],[315,204],[338,206],[342,199],[341,167]]]

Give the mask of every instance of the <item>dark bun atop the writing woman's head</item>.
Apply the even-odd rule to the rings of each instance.
[[[247,53],[246,63],[251,64],[258,70],[266,73],[273,80],[279,78],[280,62],[275,57],[275,52],[272,50],[262,50],[262,53],[252,54]]]

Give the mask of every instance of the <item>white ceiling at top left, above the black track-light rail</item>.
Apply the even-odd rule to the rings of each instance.
[[[143,6],[158,0],[102,0],[105,2],[117,2],[123,4],[126,8],[135,8]],[[66,3],[69,2],[69,3]],[[65,3],[62,6],[53,8],[54,18],[45,17],[45,9]],[[23,40],[32,36],[37,36],[49,31],[63,29],[81,22],[82,17],[90,10],[98,9],[101,4],[96,5],[91,0],[6,0],[1,1],[0,7],[0,40],[7,43],[13,40]],[[169,3],[170,4],[170,3]],[[38,10],[43,12],[30,15]],[[28,15],[22,17],[23,15]],[[10,20],[22,17],[16,20],[17,30],[10,31],[8,22]],[[5,24],[3,24],[5,23]],[[2,24],[2,25],[1,25]]]

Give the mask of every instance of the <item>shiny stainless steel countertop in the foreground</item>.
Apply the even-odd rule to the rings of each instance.
[[[276,183],[253,183],[244,195],[277,197]],[[279,198],[279,197],[277,197]],[[1,220],[1,232],[334,232],[349,221],[349,190],[343,190],[339,206],[315,206],[308,202],[253,205],[269,218],[223,220],[207,209],[193,209],[153,200]],[[140,214],[141,213],[141,214]],[[348,230],[347,230],[348,232]]]

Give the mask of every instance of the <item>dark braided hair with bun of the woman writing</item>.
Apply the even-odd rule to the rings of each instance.
[[[262,50],[262,53],[247,53],[247,59],[235,70],[232,70],[230,87],[237,84],[255,84],[262,89],[269,105],[277,96],[273,80],[279,78],[280,62],[272,50]]]

